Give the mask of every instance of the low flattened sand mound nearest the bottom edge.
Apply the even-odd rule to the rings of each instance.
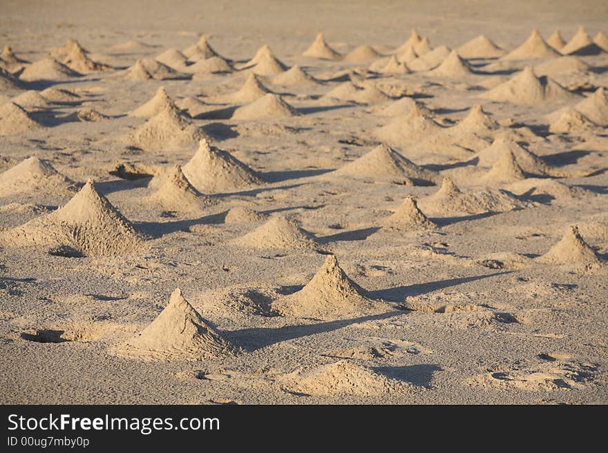
[[[317,396],[378,396],[395,392],[400,384],[347,360],[298,370],[283,376],[282,380],[290,392]]]

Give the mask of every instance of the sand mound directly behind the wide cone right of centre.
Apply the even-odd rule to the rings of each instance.
[[[421,109],[414,106],[408,114],[392,119],[390,123],[375,130],[374,133],[383,143],[404,147],[436,134],[441,129],[441,125],[435,123]]]

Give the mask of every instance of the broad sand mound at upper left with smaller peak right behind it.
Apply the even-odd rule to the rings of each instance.
[[[181,148],[207,138],[175,104],[167,105],[129,134],[129,141],[144,150]]]

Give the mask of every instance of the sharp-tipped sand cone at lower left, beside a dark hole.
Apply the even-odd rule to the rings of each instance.
[[[152,323],[112,352],[143,361],[199,361],[234,356],[239,349],[216,332],[178,288]]]

